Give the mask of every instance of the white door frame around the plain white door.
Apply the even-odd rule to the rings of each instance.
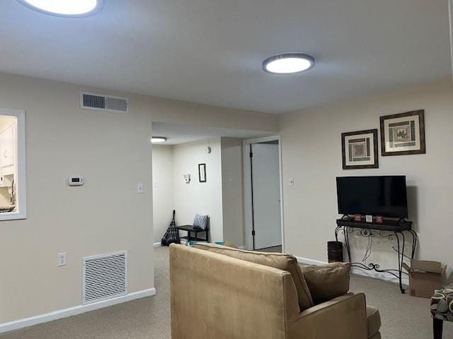
[[[253,249],[252,237],[252,189],[251,189],[251,166],[250,145],[253,143],[267,143],[278,141],[278,167],[280,169],[280,225],[282,227],[282,252],[285,252],[285,224],[283,222],[283,177],[282,177],[282,138],[280,135],[265,136],[262,138],[246,139],[242,141],[243,148],[243,195],[244,195],[244,225],[246,249]]]

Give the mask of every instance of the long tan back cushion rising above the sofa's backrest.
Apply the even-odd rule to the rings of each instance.
[[[306,285],[304,275],[302,274],[299,265],[297,264],[297,259],[294,256],[281,253],[246,251],[243,249],[234,249],[231,247],[208,243],[197,243],[194,247],[196,249],[204,249],[218,254],[224,254],[225,256],[241,259],[243,261],[250,261],[252,263],[258,263],[259,265],[269,266],[279,270],[286,270],[291,274],[294,285],[296,286],[300,311],[304,311],[305,309],[314,306],[309,287]]]

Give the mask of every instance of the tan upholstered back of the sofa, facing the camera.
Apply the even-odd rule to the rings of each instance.
[[[170,246],[171,338],[287,339],[300,314],[292,276],[188,246]]]

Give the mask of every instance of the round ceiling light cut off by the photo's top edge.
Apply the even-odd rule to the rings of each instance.
[[[18,0],[35,11],[67,18],[92,16],[101,11],[103,0]]]

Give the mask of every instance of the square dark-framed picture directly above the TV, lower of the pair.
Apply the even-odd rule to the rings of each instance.
[[[341,133],[343,169],[379,168],[377,129]]]

